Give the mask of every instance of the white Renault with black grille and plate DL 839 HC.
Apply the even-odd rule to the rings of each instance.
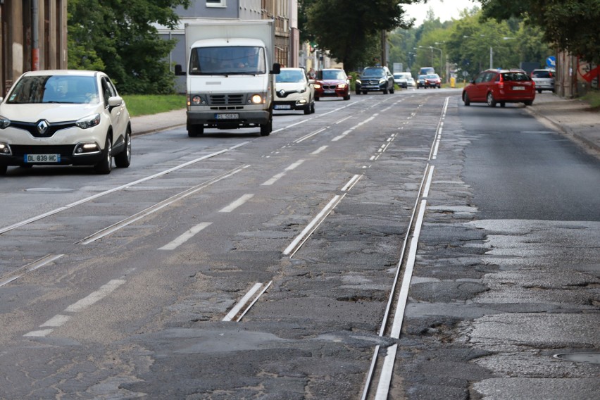
[[[93,165],[111,173],[131,163],[125,101],[99,71],[40,70],[21,75],[0,99],[0,174],[8,165]]]

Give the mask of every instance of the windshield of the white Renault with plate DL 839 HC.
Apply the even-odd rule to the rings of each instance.
[[[93,76],[35,75],[24,76],[8,96],[8,104],[99,102]]]

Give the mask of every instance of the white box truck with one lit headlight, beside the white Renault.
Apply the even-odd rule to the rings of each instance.
[[[273,130],[273,20],[195,20],[185,24],[187,134],[205,127]]]

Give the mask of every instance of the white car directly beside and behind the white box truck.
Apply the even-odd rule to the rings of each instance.
[[[304,110],[315,112],[315,85],[303,68],[281,68],[275,75],[274,110]]]

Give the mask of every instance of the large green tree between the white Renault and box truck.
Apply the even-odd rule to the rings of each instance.
[[[70,0],[68,66],[104,70],[123,94],[173,92],[168,54],[175,46],[153,23],[174,27],[190,0]]]

